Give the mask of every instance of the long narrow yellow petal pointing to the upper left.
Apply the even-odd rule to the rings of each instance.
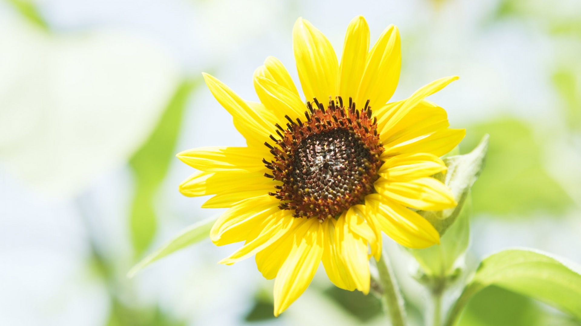
[[[206,73],[203,73],[203,76],[210,92],[232,115],[236,130],[246,138],[246,141],[252,144],[264,143],[271,134],[272,126],[223,82]]]

